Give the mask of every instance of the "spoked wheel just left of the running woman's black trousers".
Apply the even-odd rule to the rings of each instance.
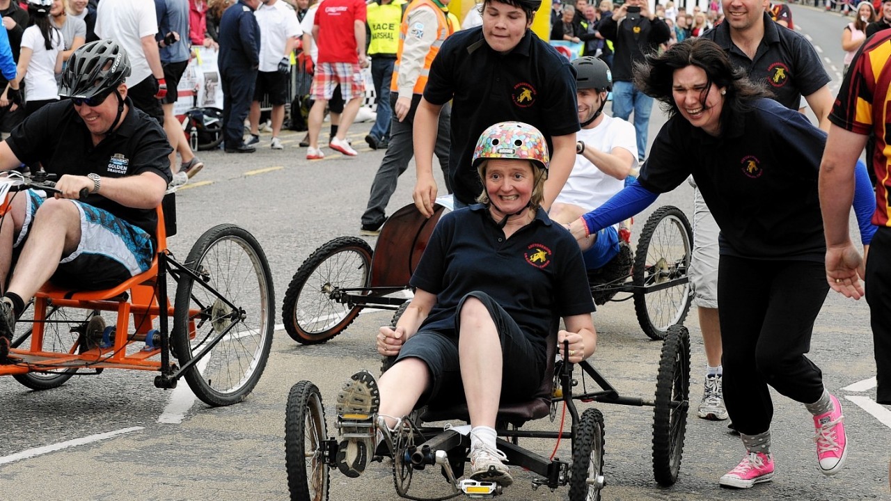
[[[693,232],[681,209],[657,209],[643,226],[637,242],[632,279],[636,287],[658,290],[634,292],[634,311],[651,339],[661,340],[668,327],[683,324],[690,309],[692,290],[687,280]]]

